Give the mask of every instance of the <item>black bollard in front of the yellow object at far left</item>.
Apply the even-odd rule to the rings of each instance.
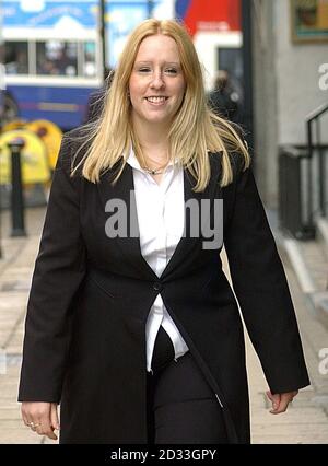
[[[11,152],[11,236],[26,236],[24,226],[24,200],[22,187],[21,152],[25,142],[22,138],[13,139],[8,143]]]

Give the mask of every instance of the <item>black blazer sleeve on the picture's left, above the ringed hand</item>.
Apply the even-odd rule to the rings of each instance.
[[[20,401],[60,401],[71,303],[85,273],[80,178],[70,177],[71,152],[63,138],[27,304]]]

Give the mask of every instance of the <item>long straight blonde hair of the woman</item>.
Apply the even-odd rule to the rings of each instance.
[[[73,168],[72,175],[83,164],[82,175],[90,182],[97,183],[103,172],[121,161],[113,182],[116,183],[131,145],[140,158],[141,147],[131,125],[128,86],[141,42],[157,34],[172,37],[176,42],[186,81],[184,101],[168,133],[169,154],[179,160],[195,177],[197,183],[194,190],[202,191],[211,175],[208,152],[222,151],[221,186],[226,186],[233,179],[231,153],[243,155],[244,168],[249,165],[249,154],[233,126],[216,116],[208,106],[201,67],[192,40],[185,27],[174,20],[145,20],[130,35],[112,85],[106,92],[103,113],[97,121],[84,127],[87,136],[78,152],[83,147],[87,147],[87,150]]]

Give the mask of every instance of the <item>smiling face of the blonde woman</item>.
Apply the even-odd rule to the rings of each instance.
[[[169,125],[185,88],[176,42],[161,34],[144,38],[129,80],[133,121]]]

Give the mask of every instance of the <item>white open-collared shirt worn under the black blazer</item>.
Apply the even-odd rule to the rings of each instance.
[[[132,150],[127,163],[133,168],[141,254],[160,278],[184,234],[184,171],[178,163],[171,162],[157,184],[141,168]],[[148,371],[151,371],[154,343],[161,325],[172,340],[176,359],[188,351],[159,293],[145,324]]]

